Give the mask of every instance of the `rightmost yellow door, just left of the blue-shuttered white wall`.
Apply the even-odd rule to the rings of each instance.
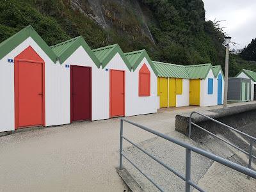
[[[200,79],[189,81],[189,105],[200,106]]]

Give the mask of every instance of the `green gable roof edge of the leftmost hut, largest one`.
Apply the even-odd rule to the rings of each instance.
[[[9,52],[11,52],[15,47],[20,45],[24,40],[27,38],[33,38],[33,40],[38,44],[38,46],[51,58],[51,60],[56,63],[57,56],[51,50],[51,48],[45,43],[45,41],[41,38],[38,33],[36,33],[35,29],[32,26],[27,26],[26,28],[22,29],[15,35],[11,36],[10,38],[4,40],[0,44],[0,60],[6,56]]]

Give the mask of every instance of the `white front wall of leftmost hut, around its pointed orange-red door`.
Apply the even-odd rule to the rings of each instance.
[[[29,45],[45,61],[45,125],[61,124],[60,65],[56,65],[31,38],[27,38],[0,60],[0,132],[15,129],[14,65],[8,59],[24,51]]]

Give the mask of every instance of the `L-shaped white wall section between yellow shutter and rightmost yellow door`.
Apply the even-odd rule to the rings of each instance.
[[[182,79],[182,95],[176,95],[176,107],[189,106],[189,79]]]

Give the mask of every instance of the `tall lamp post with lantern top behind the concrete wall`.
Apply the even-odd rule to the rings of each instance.
[[[229,58],[229,44],[231,37],[225,36],[226,58],[225,58],[225,77],[224,77],[224,102],[223,108],[227,108],[228,102],[228,58]]]

